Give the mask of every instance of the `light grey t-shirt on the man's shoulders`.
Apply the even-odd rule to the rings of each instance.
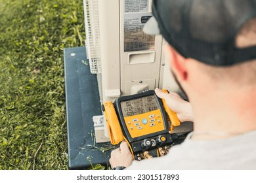
[[[191,135],[166,156],[133,161],[127,169],[256,169],[256,131],[212,141]]]

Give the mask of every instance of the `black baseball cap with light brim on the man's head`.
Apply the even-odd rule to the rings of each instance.
[[[161,34],[184,58],[217,66],[256,59],[256,46],[236,47],[256,0],[153,0],[152,13],[144,33]]]

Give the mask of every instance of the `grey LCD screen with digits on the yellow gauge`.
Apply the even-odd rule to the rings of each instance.
[[[154,95],[140,97],[138,99],[132,99],[129,101],[121,101],[120,104],[123,117],[143,114],[159,108],[158,102],[156,101]]]

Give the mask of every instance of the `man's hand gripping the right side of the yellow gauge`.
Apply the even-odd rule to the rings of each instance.
[[[156,95],[161,99],[165,99],[167,105],[171,110],[176,112],[179,120],[181,122],[193,122],[194,115],[192,112],[192,107],[189,102],[184,101],[180,95],[174,92],[164,93],[160,89],[156,88]]]

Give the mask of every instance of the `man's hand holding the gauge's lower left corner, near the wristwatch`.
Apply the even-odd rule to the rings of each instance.
[[[120,147],[116,150],[112,150],[110,165],[114,167],[128,167],[133,161],[133,155],[129,150],[127,142],[123,141],[120,144]]]

